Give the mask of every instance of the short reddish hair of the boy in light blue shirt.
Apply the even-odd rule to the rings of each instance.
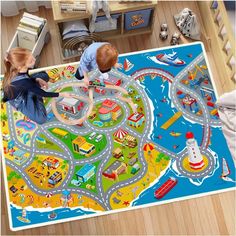
[[[96,62],[99,70],[106,71],[111,69],[117,62],[118,51],[111,44],[105,44],[98,48]]]

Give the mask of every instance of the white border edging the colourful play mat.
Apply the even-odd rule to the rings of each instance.
[[[170,47],[174,49],[174,48],[179,48],[179,47],[188,47],[188,46],[191,46],[191,45],[201,45],[202,46],[204,59],[206,61],[207,68],[208,68],[208,71],[209,71],[209,74],[210,74],[210,77],[211,77],[211,82],[212,82],[212,85],[213,85],[213,89],[214,89],[216,98],[218,98],[219,95],[218,95],[218,91],[216,89],[215,81],[213,79],[212,71],[210,69],[210,64],[209,64],[209,61],[208,61],[208,58],[207,58],[205,46],[204,46],[203,42],[201,42],[201,41],[188,43],[188,44],[181,44],[181,45],[176,45],[176,46],[167,46],[167,47],[161,47],[161,48],[153,48],[153,49],[123,53],[123,54],[120,54],[119,56],[123,57],[123,56],[136,55],[136,54],[145,53],[145,52],[153,52],[153,51],[170,49]],[[33,69],[33,70],[29,70],[29,74],[40,72],[42,70],[50,70],[50,69],[53,69],[55,67],[63,67],[63,66],[68,66],[68,65],[79,65],[79,62],[71,62],[71,63],[65,63],[65,64],[59,64],[59,65],[54,65],[54,66],[48,66],[48,67]],[[3,75],[1,75],[1,77],[2,76]],[[75,217],[70,217],[70,218],[67,218],[67,219],[61,219],[61,220],[58,220],[58,221],[48,221],[48,222],[45,222],[45,223],[38,223],[38,224],[34,224],[34,225],[29,225],[29,226],[13,227],[13,225],[12,225],[12,215],[11,215],[11,209],[10,209],[9,191],[8,191],[8,188],[7,188],[8,182],[7,182],[7,173],[6,173],[6,163],[5,163],[5,156],[4,156],[3,148],[2,148],[2,135],[0,137],[0,141],[1,141],[0,148],[1,148],[1,156],[2,156],[2,164],[3,164],[2,168],[3,168],[3,178],[4,178],[5,193],[6,193],[6,200],[7,200],[6,202],[7,202],[9,227],[10,227],[10,230],[14,231],[14,232],[19,231],[19,230],[26,230],[26,229],[30,229],[30,228],[38,228],[38,227],[42,227],[42,226],[60,224],[60,223],[69,222],[69,221],[82,220],[82,219],[87,219],[87,218],[110,215],[110,214],[114,214],[114,213],[130,211],[130,210],[137,210],[137,209],[142,209],[142,208],[145,208],[145,207],[152,207],[152,206],[158,206],[158,205],[163,205],[163,204],[168,204],[168,203],[175,203],[175,202],[179,202],[179,201],[183,201],[183,200],[199,198],[199,197],[204,197],[204,196],[210,196],[210,195],[214,195],[214,194],[217,194],[217,193],[223,193],[223,192],[229,192],[229,191],[233,191],[233,190],[235,191],[236,190],[236,186],[235,186],[235,187],[231,187],[231,188],[210,191],[210,192],[207,192],[207,193],[200,193],[200,194],[195,194],[195,195],[190,195],[190,196],[185,196],[185,197],[179,197],[179,198],[174,198],[174,199],[172,198],[172,199],[161,201],[161,202],[143,204],[143,205],[140,205],[140,206],[132,206],[130,208],[123,208],[123,209],[117,209],[117,210],[104,211],[104,212],[100,212],[100,213],[94,213],[94,214],[87,215],[87,216],[75,216]]]

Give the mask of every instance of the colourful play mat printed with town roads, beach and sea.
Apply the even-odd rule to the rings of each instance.
[[[75,63],[42,68],[50,76],[49,91],[77,96],[54,103],[65,123],[55,117],[52,99],[44,99],[43,125],[1,104],[12,230],[235,186],[203,44],[123,54],[119,63],[122,69],[111,70],[92,89],[78,85]],[[99,77],[97,70],[90,73],[93,81]],[[77,125],[66,123],[84,116]]]

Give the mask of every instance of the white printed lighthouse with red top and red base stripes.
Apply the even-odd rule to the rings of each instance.
[[[186,146],[188,149],[189,165],[194,170],[200,170],[203,168],[205,164],[193,133],[187,132],[186,139],[187,139]]]

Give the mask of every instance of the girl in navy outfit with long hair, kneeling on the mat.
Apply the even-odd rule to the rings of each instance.
[[[23,48],[12,48],[4,60],[6,72],[3,79],[3,102],[9,102],[16,110],[38,124],[47,121],[43,97],[71,97],[69,93],[46,92],[49,77],[46,72],[28,75],[35,58]]]

